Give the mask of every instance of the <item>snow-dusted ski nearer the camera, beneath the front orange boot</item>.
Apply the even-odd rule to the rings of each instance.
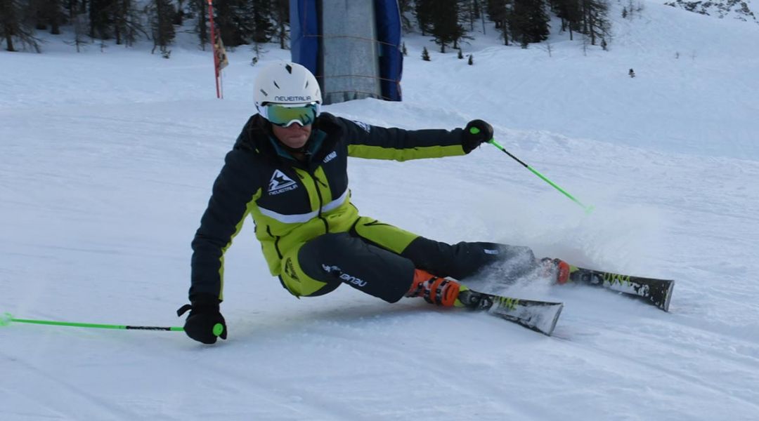
[[[502,297],[464,288],[458,293],[458,301],[465,308],[487,312],[547,336],[553,333],[564,308],[562,303]]]

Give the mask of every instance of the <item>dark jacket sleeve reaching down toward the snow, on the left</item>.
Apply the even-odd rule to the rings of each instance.
[[[260,196],[247,153],[230,151],[192,242],[190,301],[198,294],[223,299],[224,254]]]

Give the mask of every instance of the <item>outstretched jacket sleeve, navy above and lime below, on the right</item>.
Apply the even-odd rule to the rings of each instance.
[[[342,117],[337,119],[345,130],[351,157],[406,161],[466,154],[461,147],[464,129],[405,130],[370,126]]]

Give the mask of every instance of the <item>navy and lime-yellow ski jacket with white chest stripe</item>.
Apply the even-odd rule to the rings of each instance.
[[[348,189],[349,156],[406,161],[463,155],[462,131],[384,128],[322,113],[301,162],[275,140],[263,117],[250,117],[225,157],[192,242],[190,299],[222,298],[224,254],[247,215],[269,272],[279,276],[288,250],[326,232],[346,232],[358,219]]]

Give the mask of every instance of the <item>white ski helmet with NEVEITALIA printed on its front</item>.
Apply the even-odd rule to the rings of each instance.
[[[266,103],[300,105],[322,103],[317,78],[298,63],[280,61],[261,69],[254,83],[253,99],[259,109]]]

